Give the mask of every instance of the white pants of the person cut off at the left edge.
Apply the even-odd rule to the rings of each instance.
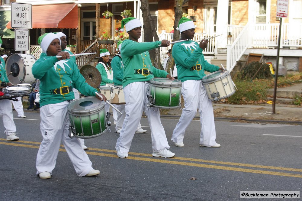
[[[13,109],[11,107],[11,100],[0,100],[0,116],[2,116],[5,134],[11,135],[16,132],[16,125],[14,123]]]

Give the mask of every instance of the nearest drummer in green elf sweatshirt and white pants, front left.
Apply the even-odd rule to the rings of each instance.
[[[43,137],[36,160],[37,175],[41,179],[51,177],[61,141],[79,177],[100,174],[99,170],[92,168],[80,141],[69,138],[67,113],[69,102],[75,98],[72,86],[85,96],[101,99],[95,94],[98,91],[85,82],[78,66],[69,60],[69,53],[61,51],[61,40],[56,34],[45,33],[39,37],[38,43],[45,54],[32,67],[34,77],[40,79],[40,131]],[[106,97],[101,96],[106,101]]]

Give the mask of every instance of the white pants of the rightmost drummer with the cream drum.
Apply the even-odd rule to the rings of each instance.
[[[200,113],[200,144],[211,147],[216,144],[216,130],[212,101],[207,97],[206,89],[201,80],[187,80],[182,83],[182,96],[185,101],[185,108],[177,123],[172,141],[180,143],[184,140],[185,131],[193,120],[197,109]]]

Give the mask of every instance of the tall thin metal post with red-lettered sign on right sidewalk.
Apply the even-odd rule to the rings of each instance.
[[[278,33],[278,47],[277,47],[277,59],[275,69],[275,86],[273,96],[273,114],[276,114],[276,96],[277,96],[277,83],[278,83],[278,69],[279,69],[279,53],[280,53],[280,42],[281,42],[281,28],[282,18],[288,16],[288,0],[277,0],[277,13],[276,16],[280,18],[279,33]]]

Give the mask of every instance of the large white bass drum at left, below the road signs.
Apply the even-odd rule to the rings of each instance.
[[[36,62],[36,58],[31,54],[10,54],[5,62],[7,78],[12,85],[20,83],[33,84],[36,80],[31,72],[31,68]]]

